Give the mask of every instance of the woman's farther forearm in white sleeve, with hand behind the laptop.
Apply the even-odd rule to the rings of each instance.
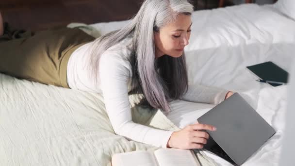
[[[189,84],[187,93],[184,94],[180,100],[219,104],[231,95],[231,91],[225,89]]]

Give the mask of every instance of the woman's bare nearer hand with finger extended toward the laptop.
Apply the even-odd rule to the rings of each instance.
[[[216,128],[212,125],[191,124],[181,129],[180,131],[173,132],[168,140],[167,148],[177,149],[201,149],[209,139],[209,134],[204,131],[215,131]]]

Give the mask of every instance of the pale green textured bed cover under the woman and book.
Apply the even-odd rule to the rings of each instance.
[[[115,153],[160,148],[115,134],[102,94],[4,74],[0,85],[0,114],[5,117],[0,121],[0,166],[111,166]],[[133,121],[179,130],[160,110],[137,106],[141,95],[129,99]],[[195,153],[202,166],[216,166],[203,151]]]

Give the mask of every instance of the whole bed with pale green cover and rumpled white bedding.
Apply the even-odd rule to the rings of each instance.
[[[185,48],[189,81],[239,92],[277,131],[243,166],[279,163],[288,85],[258,83],[246,66],[273,61],[290,71],[295,19],[280,9],[244,4],[193,13]],[[105,34],[128,22],[91,27]],[[0,100],[0,166],[111,166],[114,153],[153,148],[114,134],[99,94],[0,74]],[[182,100],[170,104],[167,117],[180,128],[214,106]],[[231,166],[205,154],[217,165]]]

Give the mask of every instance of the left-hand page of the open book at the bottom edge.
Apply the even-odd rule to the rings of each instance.
[[[112,166],[158,166],[158,164],[152,152],[131,151],[114,154]]]

